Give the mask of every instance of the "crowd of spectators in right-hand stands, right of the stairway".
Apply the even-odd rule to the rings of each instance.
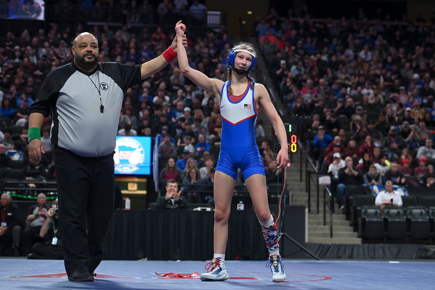
[[[377,17],[315,21],[305,7],[294,21],[271,9],[254,28],[341,206],[349,184],[435,188],[435,22]]]

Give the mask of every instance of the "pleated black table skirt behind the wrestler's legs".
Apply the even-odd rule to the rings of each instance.
[[[210,260],[214,212],[117,210],[105,240],[106,260]],[[253,212],[228,221],[226,260],[266,260],[268,251]]]

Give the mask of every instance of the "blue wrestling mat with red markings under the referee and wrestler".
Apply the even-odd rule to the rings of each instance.
[[[110,261],[97,268],[94,282],[70,282],[61,260],[2,259],[0,288],[10,289],[434,289],[435,262],[284,260],[287,280],[271,282],[264,261],[226,261],[230,279],[201,282],[205,262]],[[155,272],[178,273],[159,277]],[[175,275],[171,275],[175,276]]]

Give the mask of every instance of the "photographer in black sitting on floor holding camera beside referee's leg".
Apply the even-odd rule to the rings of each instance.
[[[43,223],[39,235],[47,242],[40,242],[33,245],[32,253],[27,259],[62,260],[64,251],[62,249],[62,238],[59,231],[57,199],[51,204],[47,213],[47,220]]]

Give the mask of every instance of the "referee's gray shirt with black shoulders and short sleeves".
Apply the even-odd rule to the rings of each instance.
[[[141,65],[102,62],[85,73],[70,63],[47,75],[30,112],[44,117],[53,113],[51,142],[55,146],[84,157],[105,156],[116,146],[124,93],[140,82]]]

